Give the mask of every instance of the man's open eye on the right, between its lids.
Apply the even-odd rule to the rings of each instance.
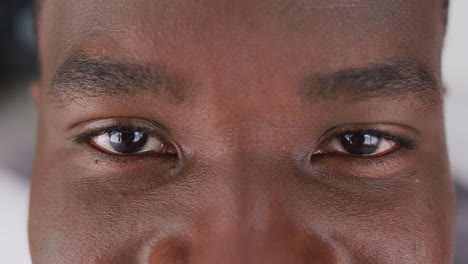
[[[378,132],[345,132],[332,137],[320,145],[314,155],[343,153],[352,156],[373,157],[384,155],[398,149],[403,142],[398,137]]]

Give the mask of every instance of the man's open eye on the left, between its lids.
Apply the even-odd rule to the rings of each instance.
[[[146,152],[175,154],[173,146],[142,130],[112,129],[92,137],[89,144],[111,154],[132,155]]]

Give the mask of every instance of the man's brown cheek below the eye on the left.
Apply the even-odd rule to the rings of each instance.
[[[212,175],[182,172],[158,181],[173,176],[159,173],[160,164],[117,169],[70,160],[37,161],[29,222],[34,263],[140,263],[152,245],[186,241],[219,194],[230,193]],[[164,255],[182,251],[179,244],[169,243]]]

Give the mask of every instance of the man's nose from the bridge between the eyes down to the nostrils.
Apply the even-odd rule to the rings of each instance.
[[[209,180],[217,188],[200,198],[209,201],[184,230],[151,247],[149,263],[337,263],[326,235],[306,222],[313,216],[292,204],[295,188],[282,180],[297,165],[281,150],[265,149],[270,144],[239,146],[210,162],[220,168]]]

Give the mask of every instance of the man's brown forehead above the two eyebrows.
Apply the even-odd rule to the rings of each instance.
[[[52,73],[73,52],[86,51],[143,62],[208,58],[230,73],[229,66],[258,71],[259,63],[298,68],[303,62],[308,70],[337,70],[385,59],[436,68],[442,35],[438,2],[45,0],[42,66]]]

